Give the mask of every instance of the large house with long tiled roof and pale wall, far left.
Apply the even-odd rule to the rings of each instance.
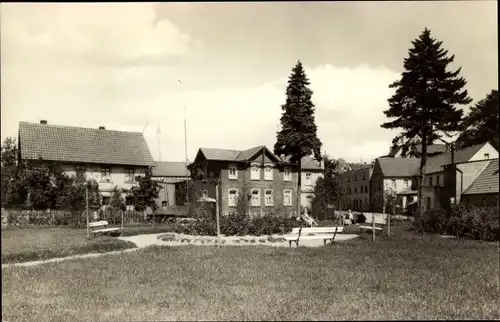
[[[99,183],[103,205],[109,204],[117,186],[125,193],[135,177],[144,175],[154,162],[142,133],[19,123],[19,157],[32,162],[56,162],[69,175],[84,173]],[[127,204],[129,202],[126,200]]]

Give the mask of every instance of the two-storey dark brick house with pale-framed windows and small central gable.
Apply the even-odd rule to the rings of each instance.
[[[236,211],[240,200],[248,202],[245,207],[252,215],[291,214],[296,209],[297,166],[265,146],[244,151],[200,148],[188,168],[196,197],[215,198],[222,214]]]

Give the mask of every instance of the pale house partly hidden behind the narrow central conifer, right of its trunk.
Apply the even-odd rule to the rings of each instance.
[[[286,161],[289,158],[283,157]],[[300,204],[303,208],[311,209],[314,198],[314,188],[318,178],[323,177],[323,161],[317,161],[312,157],[304,157],[301,162],[301,181],[300,181]]]

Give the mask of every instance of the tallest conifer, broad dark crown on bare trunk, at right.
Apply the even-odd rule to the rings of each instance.
[[[463,111],[456,106],[469,104],[472,100],[463,89],[467,82],[459,77],[461,68],[447,70],[455,56],[448,56],[448,51],[441,48],[442,41],[432,38],[430,30],[425,28],[412,44],[408,58],[404,59],[405,71],[401,79],[389,86],[396,92],[388,99],[389,109],[384,114],[395,120],[381,126],[401,130],[393,139],[393,145],[402,146],[403,155],[409,148],[422,144],[418,185],[418,209],[422,214],[427,145],[443,132],[458,131]]]

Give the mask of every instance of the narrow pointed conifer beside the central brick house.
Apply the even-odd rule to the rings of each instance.
[[[297,62],[292,69],[286,89],[286,101],[281,106],[281,131],[277,133],[274,153],[289,158],[298,165],[297,216],[300,216],[301,159],[314,154],[321,161],[321,141],[316,135],[314,104],[302,63]]]

